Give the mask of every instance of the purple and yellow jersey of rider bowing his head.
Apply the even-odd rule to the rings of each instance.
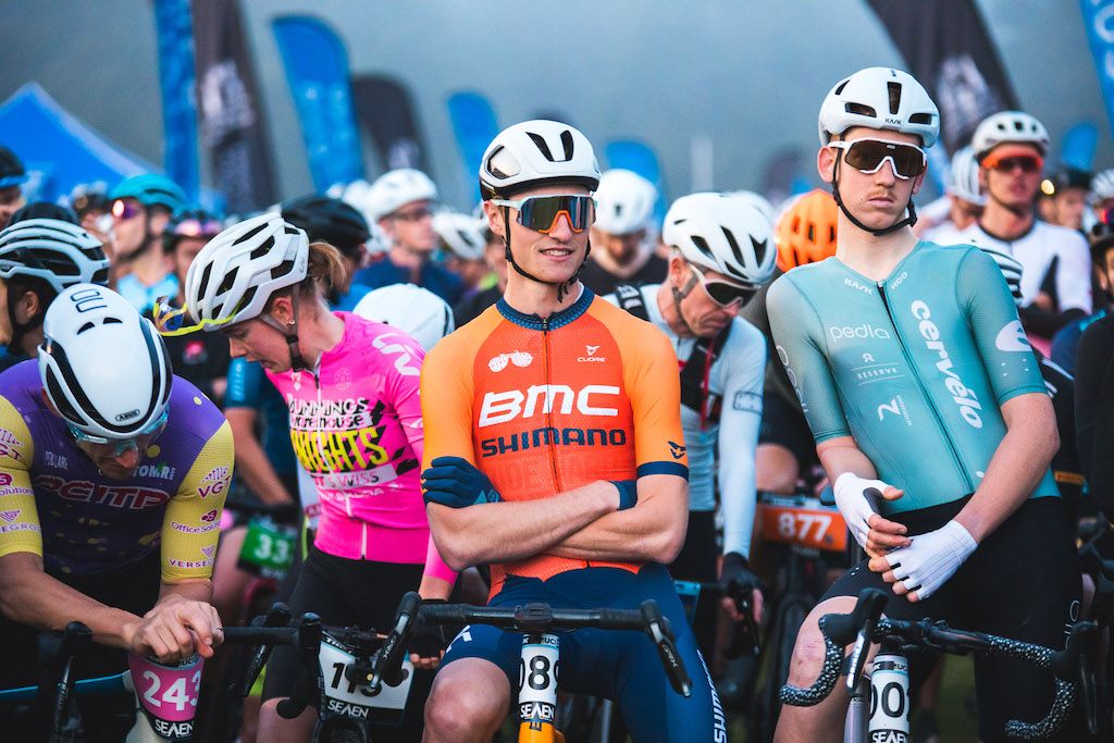
[[[33,360],[0,374],[0,555],[41,555],[48,569],[92,574],[159,549],[163,579],[208,577],[232,479],[232,431],[175,377],[163,434],[127,480],[110,480],[47,408]]]

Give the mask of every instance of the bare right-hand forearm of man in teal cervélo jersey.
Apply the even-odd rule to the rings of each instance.
[[[1051,411],[1051,402],[1048,407]],[[975,541],[986,539],[1028,499],[1048,470],[1057,442],[1055,418],[1035,416],[1028,418],[1025,427],[1008,429],[983,482],[956,516]]]

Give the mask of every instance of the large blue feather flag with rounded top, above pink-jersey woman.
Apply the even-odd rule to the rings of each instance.
[[[285,16],[273,22],[286,82],[302,124],[313,185],[324,192],[363,177],[348,51],[324,22]]]

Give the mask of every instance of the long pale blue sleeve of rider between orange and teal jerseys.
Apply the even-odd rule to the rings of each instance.
[[[765,336],[750,324],[743,353],[724,369],[720,412],[720,497],[723,502],[723,553],[750,557],[754,530],[754,451],[762,427],[762,385],[765,380]]]

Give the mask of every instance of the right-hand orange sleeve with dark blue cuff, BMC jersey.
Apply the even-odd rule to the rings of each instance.
[[[623,383],[634,412],[637,476],[688,479],[677,355],[665,334],[649,323],[633,321],[624,341]]]

